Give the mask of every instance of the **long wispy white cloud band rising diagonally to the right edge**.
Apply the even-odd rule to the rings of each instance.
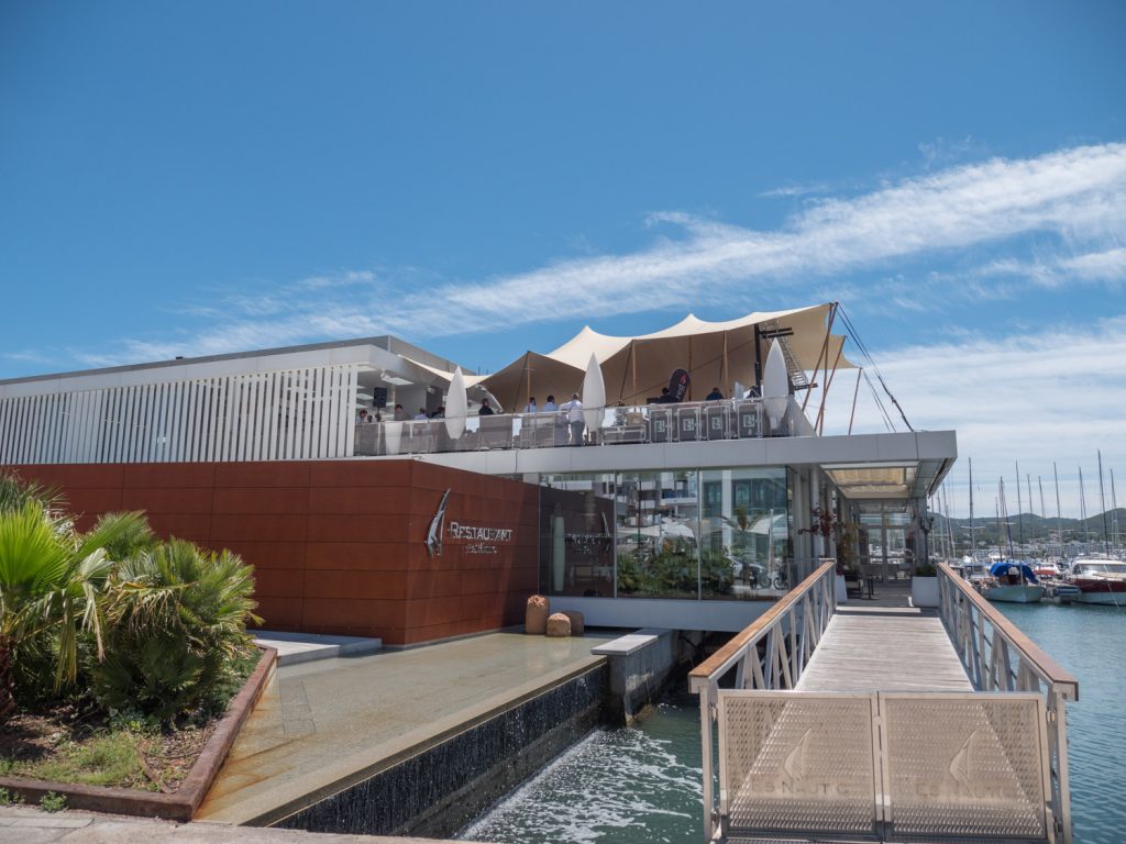
[[[677,212],[653,214],[647,223],[654,234],[647,248],[479,281],[435,280],[413,268],[322,273],[226,297],[209,306],[211,315],[200,320],[206,326],[197,331],[160,342],[129,340],[119,351],[83,359],[124,362],[382,332],[414,335],[420,325],[429,336],[456,335],[595,314],[794,304],[828,279],[872,270],[890,272],[887,289],[899,295],[892,305],[911,307],[919,297],[909,286],[918,279],[896,272],[897,266],[1030,235],[1039,254],[1029,257],[1021,252],[1027,245],[1015,245],[1009,266],[998,261],[985,273],[927,284],[935,289],[945,284],[947,299],[951,290],[982,298],[1011,295],[1049,277],[1053,284],[1067,278],[1117,284],[1126,232],[1126,144],[950,167],[861,196],[815,201],[769,231]],[[1040,268],[1042,275],[1020,279],[1020,266]]]

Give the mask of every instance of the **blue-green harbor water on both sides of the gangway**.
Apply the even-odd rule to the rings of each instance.
[[[1126,609],[997,604],[1080,685],[1067,707],[1076,844],[1126,841]],[[667,695],[637,727],[597,730],[459,838],[498,844],[701,842],[699,709]]]

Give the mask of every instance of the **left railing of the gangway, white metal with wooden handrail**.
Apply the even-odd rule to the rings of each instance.
[[[720,824],[714,776],[713,726],[720,715],[720,683],[734,672],[735,689],[793,689],[837,609],[835,560],[813,574],[763,612],[688,675],[700,700],[704,761],[704,830],[711,839]]]

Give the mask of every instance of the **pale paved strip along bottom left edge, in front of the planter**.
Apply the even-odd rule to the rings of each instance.
[[[295,829],[231,829],[225,824],[175,824],[84,811],[46,812],[0,807],[0,844],[439,844],[431,838],[303,833]],[[441,844],[454,844],[441,842]]]

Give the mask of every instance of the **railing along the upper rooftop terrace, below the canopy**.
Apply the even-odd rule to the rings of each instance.
[[[467,416],[465,431],[456,438],[449,436],[444,419],[360,423],[356,425],[355,454],[384,457],[815,436],[813,425],[793,397],[777,427],[771,425],[759,398],[587,407],[584,413],[600,415],[601,423],[584,427],[578,440],[574,440],[566,411]]]

